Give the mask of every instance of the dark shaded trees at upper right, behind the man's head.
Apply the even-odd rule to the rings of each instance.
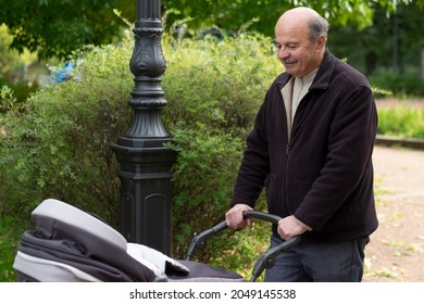
[[[419,1],[401,3],[389,15],[377,8],[373,26],[360,33],[350,25],[332,27],[328,46],[334,54],[347,58],[367,76],[377,67],[400,74],[412,71],[417,74],[421,50],[424,49],[423,13],[424,5]]]

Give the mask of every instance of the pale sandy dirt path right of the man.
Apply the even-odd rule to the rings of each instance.
[[[376,147],[379,227],[365,249],[369,282],[424,281],[424,151]]]

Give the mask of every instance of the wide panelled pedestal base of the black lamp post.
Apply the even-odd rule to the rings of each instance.
[[[175,152],[164,148],[111,148],[121,164],[121,232],[128,242],[172,254],[172,174]],[[140,142],[138,144],[140,145]],[[148,144],[148,145],[151,145]]]

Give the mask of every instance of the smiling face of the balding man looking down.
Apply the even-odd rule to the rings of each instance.
[[[282,17],[275,27],[275,46],[278,59],[286,72],[296,77],[308,75],[320,66],[322,60],[321,37],[309,40],[309,27],[305,21]]]

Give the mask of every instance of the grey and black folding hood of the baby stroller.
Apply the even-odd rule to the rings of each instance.
[[[14,268],[27,274],[28,265],[42,265],[43,271],[27,274],[38,280],[48,276],[47,269],[63,270],[68,280],[77,268],[101,281],[152,281],[154,273],[127,254],[127,242],[102,220],[58,200],[46,200],[32,213],[35,230],[21,238]],[[28,256],[38,262],[28,261]],[[25,258],[26,257],[26,258]],[[43,262],[42,262],[43,261]],[[52,266],[52,262],[57,263]],[[68,265],[63,267],[60,265]],[[61,280],[58,278],[58,280]]]

